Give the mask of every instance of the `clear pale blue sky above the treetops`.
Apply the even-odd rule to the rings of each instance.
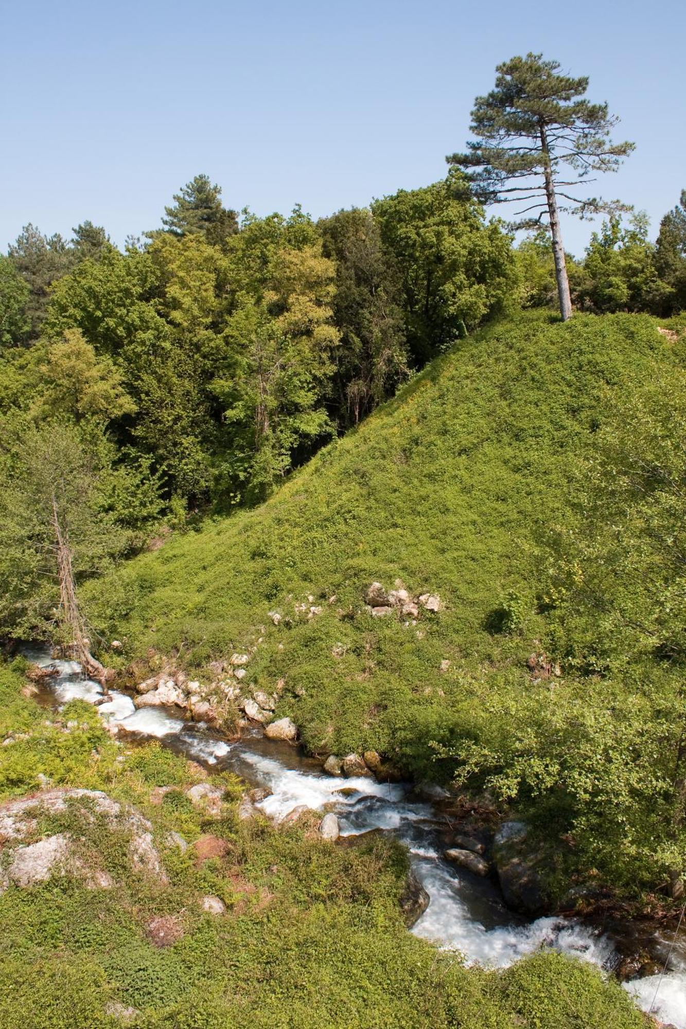
[[[259,214],[427,184],[495,65],[527,50],[621,116],[637,151],[599,189],[656,230],[686,187],[685,42],[683,0],[5,0],[0,248],[85,218],[123,244],[198,172]],[[563,227],[581,252],[588,223]]]

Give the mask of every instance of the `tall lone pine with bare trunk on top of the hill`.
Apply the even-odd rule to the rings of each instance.
[[[470,128],[478,138],[468,142],[467,152],[453,153],[447,162],[470,169],[467,178],[482,204],[518,204],[516,227],[547,224],[560,314],[567,321],[572,300],[559,212],[583,218],[618,210],[617,202],[576,193],[595,181],[588,177],[591,173],[617,171],[633,143],[611,141],[618,119],[607,104],[580,99],[588,88],[587,76],[572,78],[560,74],[559,67],[542,54],[499,65],[495,88],[477,97],[472,111]]]

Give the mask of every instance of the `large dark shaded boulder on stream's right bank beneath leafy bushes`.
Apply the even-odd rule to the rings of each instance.
[[[539,874],[540,855],[525,822],[503,822],[493,838],[493,863],[509,908],[523,915],[541,915],[546,895]]]

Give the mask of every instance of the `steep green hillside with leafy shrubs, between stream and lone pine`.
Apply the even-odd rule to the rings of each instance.
[[[685,413],[683,336],[648,317],[500,322],[259,510],[94,584],[91,615],[128,657],[153,647],[208,676],[261,641],[250,676],[285,679],[278,714],[310,751],[485,785],[556,828],[578,876],[658,887],[685,853]],[[648,493],[620,474],[636,438]],[[366,587],[397,578],[443,609],[373,618]]]

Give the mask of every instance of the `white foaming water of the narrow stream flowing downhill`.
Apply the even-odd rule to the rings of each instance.
[[[84,679],[76,662],[53,660],[46,649],[25,654],[41,667],[59,670],[49,680],[49,703],[101,700],[101,686]],[[288,744],[267,740],[260,731],[230,743],[203,723],[184,721],[173,710],[136,710],[126,694],[112,691],[107,703],[99,704],[99,712],[121,732],[134,734],[132,739],[156,737],[207,767],[234,771],[250,784],[267,787],[271,793],[259,807],[272,818],[283,818],[299,806],[327,807],[338,815],[342,836],[372,829],[393,832],[407,846],[414,873],[431,897],[411,931],[438,947],[459,951],[468,963],[505,967],[542,947],[606,969],[616,963],[609,934],[578,919],[520,918],[505,907],[490,879],[444,860],[439,816],[431,804],[413,800],[408,785],[329,776],[317,761]],[[672,944],[670,937],[653,932],[651,950],[660,963],[666,963],[664,974],[632,980],[624,987],[644,1010],[686,1029],[686,944],[683,939]]]

